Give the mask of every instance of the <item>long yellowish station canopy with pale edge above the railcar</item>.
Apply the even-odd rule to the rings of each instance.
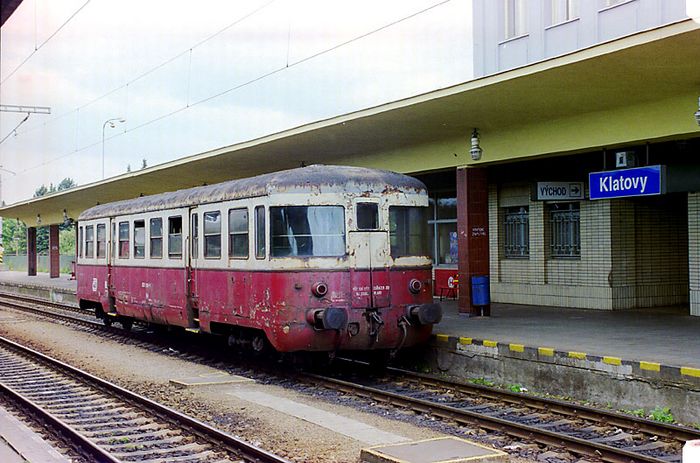
[[[698,63],[700,25],[681,21],[453,87],[18,202],[0,208],[0,216],[18,218],[30,226],[36,225],[37,215],[42,225],[62,223],[64,210],[76,218],[96,204],[302,163],[378,167],[410,174],[551,155],[574,146],[579,152],[600,149],[611,141],[624,142],[619,135],[623,133],[656,140],[698,136],[700,128],[693,119],[700,93]],[[647,105],[651,111],[654,102],[661,100],[682,100],[681,111],[676,111],[682,113],[677,116],[682,117],[680,125],[664,125],[654,120],[656,115],[640,121],[625,109]],[[667,112],[659,111],[657,118]],[[619,124],[598,114],[619,119]],[[586,119],[586,115],[592,116]],[[469,158],[469,139],[475,127],[482,134],[484,153],[499,153],[497,156],[485,154],[479,161]],[[527,134],[536,133],[543,135],[528,138]],[[553,144],[550,140],[556,141],[557,136],[570,139],[571,145]],[[462,146],[459,156],[431,156],[430,147],[444,140],[457,140]],[[422,164],[402,159],[403,153],[420,149],[424,151],[415,159]]]

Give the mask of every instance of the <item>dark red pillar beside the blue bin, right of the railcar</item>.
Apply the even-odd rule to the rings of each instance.
[[[488,316],[489,306],[472,304],[472,276],[489,276],[489,211],[486,169],[457,169],[459,312]]]

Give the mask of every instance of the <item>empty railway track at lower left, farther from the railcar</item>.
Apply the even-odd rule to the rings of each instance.
[[[287,461],[1,337],[0,390],[91,461]]]

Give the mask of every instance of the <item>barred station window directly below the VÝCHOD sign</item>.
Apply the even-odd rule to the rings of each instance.
[[[581,257],[579,203],[549,205],[549,249],[552,258]]]

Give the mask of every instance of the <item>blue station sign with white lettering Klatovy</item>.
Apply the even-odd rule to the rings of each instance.
[[[665,193],[665,166],[591,172],[588,174],[591,199],[629,198]]]

